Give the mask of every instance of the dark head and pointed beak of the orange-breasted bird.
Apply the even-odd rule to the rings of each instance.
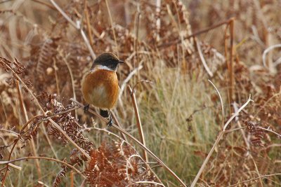
[[[112,71],[117,70],[117,66],[120,63],[124,63],[124,61],[119,60],[118,57],[112,53],[103,53],[99,55],[95,61],[93,61],[93,65],[91,69],[94,69],[96,66],[100,65],[103,67],[107,67]]]

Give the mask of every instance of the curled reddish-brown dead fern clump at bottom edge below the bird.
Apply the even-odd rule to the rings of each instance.
[[[90,155],[91,160],[84,172],[90,186],[143,186],[136,182],[156,181],[155,176],[141,166],[143,160],[138,158],[131,146],[121,142],[103,143]]]

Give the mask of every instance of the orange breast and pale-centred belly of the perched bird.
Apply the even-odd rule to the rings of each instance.
[[[112,109],[115,106],[119,86],[115,71],[96,69],[89,71],[82,79],[82,94],[86,102],[100,109]]]

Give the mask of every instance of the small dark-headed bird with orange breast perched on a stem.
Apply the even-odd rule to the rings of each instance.
[[[117,78],[118,64],[124,61],[113,53],[102,53],[93,61],[91,69],[86,72],[81,81],[81,92],[87,104],[84,111],[89,109],[89,104],[101,110],[108,111],[108,126],[112,125],[111,109],[117,103],[119,97],[119,85]]]

